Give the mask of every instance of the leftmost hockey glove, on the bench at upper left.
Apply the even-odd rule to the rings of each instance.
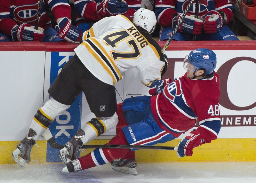
[[[13,41],[42,41],[44,37],[44,29],[39,27],[38,30],[35,26],[23,23],[12,28],[12,40]]]

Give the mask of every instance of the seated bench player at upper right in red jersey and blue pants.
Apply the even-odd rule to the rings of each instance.
[[[233,17],[229,0],[199,0],[198,17],[195,16],[196,1],[183,19],[173,40],[239,40],[227,25]],[[156,17],[161,27],[159,41],[170,37],[190,0],[156,0]]]

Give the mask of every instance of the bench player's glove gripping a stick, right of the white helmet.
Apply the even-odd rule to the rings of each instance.
[[[180,21],[183,13],[172,19],[172,28],[174,29]],[[196,18],[195,15],[186,15],[178,28],[178,32],[185,31],[190,34],[202,34],[204,19]]]

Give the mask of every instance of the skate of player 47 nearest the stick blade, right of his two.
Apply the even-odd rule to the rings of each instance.
[[[74,159],[77,159],[77,151],[83,142],[81,140],[84,137],[85,133],[82,129],[78,130],[76,136],[70,139],[65,147],[60,149],[59,156],[64,165],[68,162],[71,162]]]

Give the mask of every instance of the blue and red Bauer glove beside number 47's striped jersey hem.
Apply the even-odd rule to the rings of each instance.
[[[80,43],[82,36],[82,29],[71,25],[71,20],[67,17],[63,17],[58,25],[55,26],[60,39],[64,39],[68,43]]]

